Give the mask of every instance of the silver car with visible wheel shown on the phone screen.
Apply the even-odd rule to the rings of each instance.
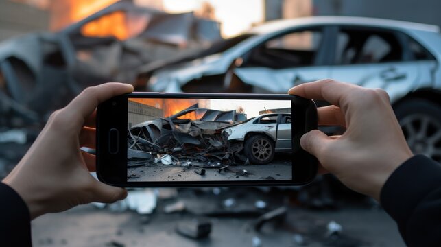
[[[276,152],[291,151],[291,113],[267,113],[224,128],[228,141],[243,143],[250,163],[267,164]]]

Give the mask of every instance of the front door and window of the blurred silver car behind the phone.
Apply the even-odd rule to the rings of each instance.
[[[308,27],[274,36],[243,56],[234,73],[254,93],[286,93],[296,84],[329,77],[324,27]]]

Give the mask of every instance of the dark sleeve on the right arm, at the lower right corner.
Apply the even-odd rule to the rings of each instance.
[[[441,165],[423,155],[405,161],[381,190],[381,204],[408,246],[441,246]]]

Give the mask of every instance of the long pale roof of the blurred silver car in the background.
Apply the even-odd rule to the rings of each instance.
[[[281,30],[289,30],[296,26],[308,25],[360,25],[364,27],[385,27],[392,29],[420,30],[426,32],[440,32],[437,25],[396,21],[390,19],[377,19],[353,16],[311,16],[296,19],[269,21],[263,25],[252,28],[250,33],[268,34]]]

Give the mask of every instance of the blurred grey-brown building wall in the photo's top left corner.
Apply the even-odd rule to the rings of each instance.
[[[0,0],[0,41],[26,34],[49,29],[49,13],[45,10]]]

